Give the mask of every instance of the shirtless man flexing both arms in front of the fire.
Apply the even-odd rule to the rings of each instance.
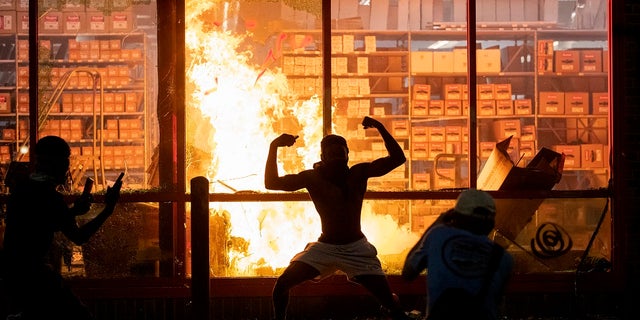
[[[298,137],[282,134],[271,142],[265,168],[265,187],[283,191],[306,188],[322,225],[318,240],[308,243],[302,252],[295,255],[278,277],[273,288],[275,319],[285,319],[289,291],[293,287],[307,280],[322,279],[338,270],[371,292],[394,319],[408,318],[397,296],[391,292],[376,248],[367,241],[360,226],[368,179],[391,172],[402,165],[406,158],[398,142],[382,123],[365,117],[362,125],[365,129],[378,130],[387,156],[349,167],[347,141],[332,134],[322,139],[321,161],[313,169],[280,176],[277,149],[292,146]]]

